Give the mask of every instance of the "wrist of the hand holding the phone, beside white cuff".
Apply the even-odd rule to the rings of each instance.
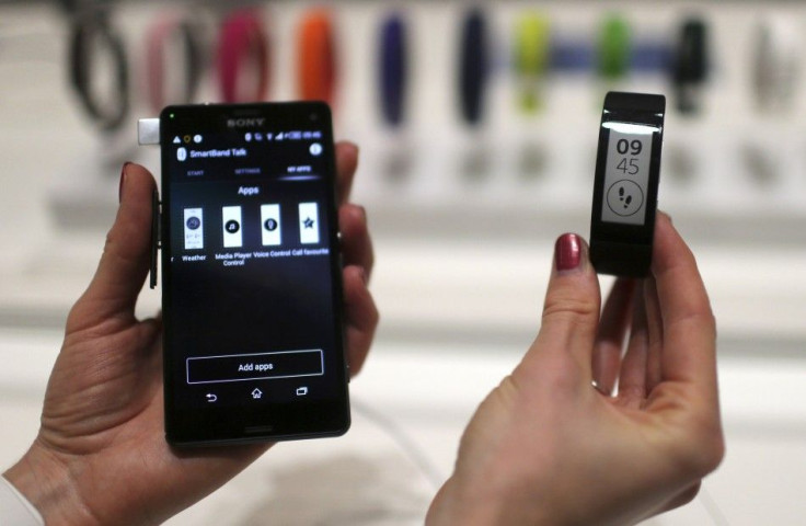
[[[68,465],[38,443],[34,443],[3,477],[39,512],[48,526],[94,523],[76,490]]]

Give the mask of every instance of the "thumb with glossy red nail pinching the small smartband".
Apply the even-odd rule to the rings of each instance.
[[[589,382],[600,302],[599,279],[588,259],[587,243],[575,233],[561,236],[554,245],[540,333],[529,353],[571,357]]]

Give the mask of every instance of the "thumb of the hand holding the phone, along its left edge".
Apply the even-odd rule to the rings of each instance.
[[[124,164],[120,206],[106,235],[95,275],[70,311],[68,332],[97,325],[110,318],[134,318],[150,266],[151,199],[156,188],[148,170],[139,164]]]

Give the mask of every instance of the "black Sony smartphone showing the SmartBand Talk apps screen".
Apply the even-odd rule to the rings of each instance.
[[[160,146],[168,442],[345,433],[330,108],[169,106]]]

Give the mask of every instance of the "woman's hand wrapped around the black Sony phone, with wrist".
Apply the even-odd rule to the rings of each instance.
[[[357,374],[378,324],[372,244],[348,203],[354,145],[336,146],[347,357]],[[97,271],[67,320],[42,425],[4,476],[51,524],[159,524],[222,485],[270,444],[177,450],[164,438],[161,320],[135,317],[149,272],[153,176],[126,164]]]

